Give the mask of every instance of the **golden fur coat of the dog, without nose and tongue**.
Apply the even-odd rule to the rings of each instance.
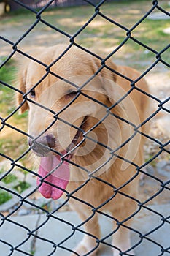
[[[47,48],[45,52],[35,53],[35,56],[49,65],[60,56],[63,50],[64,46],[57,45]],[[107,61],[106,64],[109,69],[114,69],[131,80],[136,80],[140,75],[136,70],[130,67],[116,66],[112,61]],[[122,222],[131,216],[137,207],[136,201],[131,197],[137,199],[139,175],[137,175],[136,166],[144,163],[144,136],[140,135],[139,132],[147,132],[147,127],[146,125],[142,126],[138,129],[139,132],[136,133],[134,127],[139,126],[146,118],[148,99],[142,92],[134,89],[118,105],[110,108],[131,90],[131,82],[104,67],[101,72],[98,72],[96,78],[82,86],[99,68],[101,68],[101,61],[76,47],[72,47],[50,67],[50,73],[36,86],[36,97],[32,99],[28,94],[28,99],[38,102],[40,105],[45,105],[55,113],[59,113],[58,116],[62,120],[74,124],[74,127],[70,127],[62,121],[56,121],[45,132],[45,134],[52,134],[55,137],[54,149],[58,152],[62,152],[72,143],[77,132],[75,127],[80,127],[86,116],[82,129],[88,133],[85,135],[85,141],[82,141],[84,138],[82,134],[77,138],[80,147],[74,150],[71,159],[76,165],[69,165],[71,176],[66,191],[73,192],[69,203],[80,215],[82,221],[92,216],[93,208],[97,208],[98,211],[109,211],[114,219]],[[47,74],[47,71],[49,69],[45,70],[45,67],[41,64],[27,60],[19,73],[20,90],[24,93],[29,91],[39,79]],[[57,74],[57,76],[52,73]],[[74,98],[69,91],[75,90],[76,87],[59,77],[69,80],[76,86],[82,86],[81,91],[83,93],[63,111],[62,109]],[[135,86],[143,91],[148,91],[144,79],[139,80]],[[88,97],[85,97],[85,94]],[[90,97],[96,99],[97,102],[93,102]],[[18,101],[19,103],[23,102],[22,94],[19,95]],[[102,102],[102,105],[98,102]],[[52,124],[55,120],[53,118],[54,114],[29,101],[23,104],[21,111],[23,112],[28,108],[29,134],[36,138]],[[103,121],[90,130],[101,118],[103,118]],[[128,141],[128,138],[131,138],[131,140]],[[121,145],[123,146],[120,147]],[[115,154],[113,154],[113,151],[115,151]],[[109,158],[110,161],[107,162]],[[125,161],[123,161],[123,158],[125,158]],[[100,168],[104,162],[106,164]],[[85,170],[77,167],[77,165],[84,167]],[[91,172],[93,172],[93,176],[90,176]],[[133,178],[134,176],[136,178]],[[87,180],[85,186],[79,188]],[[129,197],[126,195],[129,195]],[[72,197],[79,198],[82,201]],[[104,204],[107,200],[108,202]],[[83,203],[83,201],[88,204]],[[131,220],[123,224],[131,225]],[[117,225],[114,221],[114,230],[116,228]],[[85,230],[96,238],[100,238],[97,213],[86,222]],[[113,235],[112,245],[123,252],[131,247],[127,228],[120,226]],[[95,246],[96,239],[85,236],[75,251],[79,255],[85,255]],[[96,252],[97,249],[90,255],[96,255]],[[113,254],[119,255],[119,250],[113,249]]]

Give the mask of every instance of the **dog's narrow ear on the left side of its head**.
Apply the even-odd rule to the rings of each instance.
[[[23,94],[26,93],[26,68],[22,69],[20,68],[20,71],[18,72],[18,89],[23,92]],[[23,94],[18,93],[18,104],[22,105],[23,103]],[[25,112],[28,109],[28,103],[24,102],[23,105],[20,107],[20,113]]]

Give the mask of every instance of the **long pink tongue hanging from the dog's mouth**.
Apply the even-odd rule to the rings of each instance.
[[[49,185],[45,182],[42,182],[41,187],[39,187],[39,192],[46,198],[58,199],[63,195],[63,190],[66,189],[67,184],[69,183],[69,162],[64,161],[61,165],[60,157],[50,156],[50,157],[42,157],[39,165],[39,175],[44,178],[50,173],[51,170],[56,170],[50,174],[45,181],[50,182],[52,185]],[[58,167],[58,165],[60,165]],[[39,177],[37,178],[37,184],[39,185],[41,181],[39,181]],[[53,184],[56,187],[53,187]],[[61,188],[61,189],[59,189]]]

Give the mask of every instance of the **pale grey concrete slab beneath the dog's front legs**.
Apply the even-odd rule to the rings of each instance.
[[[151,211],[143,209],[142,211],[137,214],[135,217],[134,229],[139,230],[140,233],[146,234],[150,230],[155,229],[159,225],[163,224],[163,217],[170,218],[170,205],[161,205],[161,206],[149,206],[154,211],[158,211],[159,214],[152,213]],[[50,217],[48,219],[45,214],[41,215],[30,215],[30,216],[23,216],[23,217],[11,217],[10,222],[5,221],[4,224],[0,227],[0,239],[1,241],[6,241],[13,246],[17,246],[18,244],[25,241],[22,246],[19,247],[20,250],[24,252],[30,253],[31,251],[34,252],[33,255],[35,256],[47,256],[47,255],[58,255],[58,256],[69,256],[70,253],[64,249],[56,249],[56,251],[52,254],[54,247],[53,243],[49,243],[48,241],[42,240],[42,238],[51,240],[55,244],[60,243],[65,238],[69,237],[72,233],[72,225],[78,225],[81,223],[80,219],[77,217],[72,211],[67,212],[60,212],[55,214],[55,218]],[[65,224],[62,220],[68,222]],[[15,225],[15,223],[20,223],[20,227]],[[46,222],[46,223],[45,223]],[[102,230],[102,237],[107,236],[110,232],[112,232],[112,222],[107,217],[101,217],[101,230]],[[42,225],[45,223],[45,225]],[[22,225],[26,226],[23,228]],[[28,232],[29,230],[34,230],[35,227],[42,225],[39,228],[36,236],[39,238],[34,238],[31,236],[29,238]],[[80,227],[81,228],[81,227]],[[29,239],[28,239],[29,238]],[[74,249],[74,247],[79,243],[82,238],[82,233],[76,231],[74,236],[69,238],[66,242],[62,244],[62,246],[66,246],[67,248]],[[165,222],[158,230],[153,232],[148,238],[155,241],[155,243],[161,244],[164,249],[170,246],[170,224]],[[106,240],[110,243],[111,238]],[[132,244],[136,244],[141,241],[139,238],[139,234],[132,231],[131,233],[131,241]],[[98,256],[112,256],[112,250],[109,246],[101,245],[101,250]],[[0,255],[7,256],[10,255],[10,246],[7,244],[0,243]],[[170,249],[169,249],[170,252]],[[136,247],[135,253],[137,256],[157,256],[161,254],[161,247],[152,243],[150,240],[143,239],[142,243]],[[20,252],[14,252],[12,256],[21,256],[25,255]],[[164,252],[165,256],[168,256],[168,252]]]

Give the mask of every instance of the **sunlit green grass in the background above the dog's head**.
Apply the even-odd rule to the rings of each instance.
[[[169,8],[166,1],[161,1],[160,5],[167,10]],[[131,29],[151,7],[152,1],[114,1],[101,5],[100,11],[117,23],[125,26],[127,29]],[[73,36],[82,25],[92,17],[93,13],[94,7],[92,6],[53,8],[43,12],[41,17],[58,29]],[[28,29],[35,21],[36,14],[26,11],[23,12],[22,9],[18,10],[18,12],[10,13],[8,18],[5,17],[1,20],[1,24],[4,23],[6,26],[16,26],[20,30],[23,24],[26,26],[26,29]],[[169,44],[169,34],[163,32],[163,29],[168,27],[169,20],[145,19],[131,34],[142,43],[159,52]],[[67,42],[69,43],[69,38],[64,37],[62,34],[59,34],[41,22],[39,22],[38,26],[33,30],[33,33],[34,31],[35,33],[39,31],[39,35],[41,36],[42,34],[43,37],[45,37],[45,35],[50,37],[50,35],[53,36],[57,34],[58,39],[54,39],[53,44],[61,42],[62,39],[68,39]],[[106,55],[106,52],[109,53],[115,50],[117,45],[123,42],[125,37],[126,31],[97,15],[96,18],[77,35],[75,42],[85,48],[95,50],[95,52],[101,55]],[[43,42],[41,43],[43,45]],[[34,44],[36,44],[35,41]],[[141,61],[154,61],[155,56],[153,56],[152,53],[145,54],[145,50],[145,48],[129,39],[123,48],[117,51],[114,59],[124,61],[125,64],[129,64],[132,67],[133,65],[136,67],[136,61],[138,61],[139,64]],[[163,60],[169,61],[168,51],[163,54]]]

